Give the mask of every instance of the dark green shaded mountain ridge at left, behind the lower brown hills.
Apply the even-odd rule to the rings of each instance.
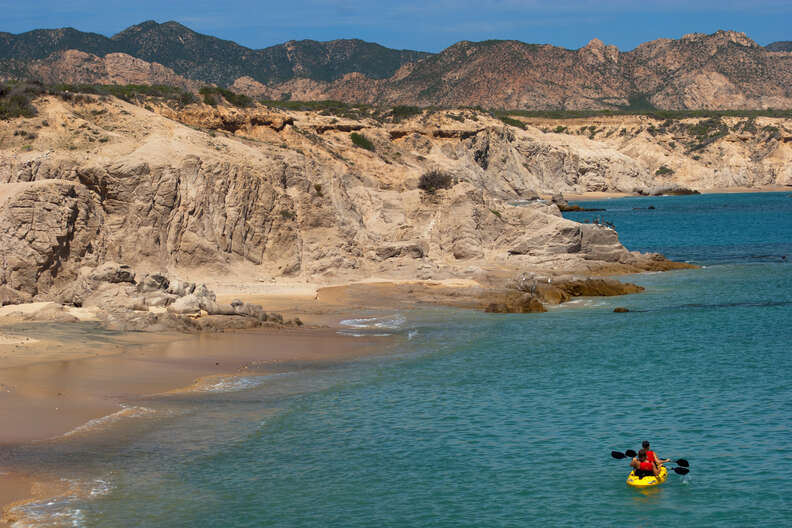
[[[99,57],[126,53],[158,62],[184,77],[220,85],[230,85],[242,76],[278,83],[295,77],[332,81],[346,73],[360,72],[379,79],[390,77],[403,64],[429,55],[392,50],[362,40],[290,41],[253,50],[196,33],[177,22],[147,21],[110,38],[72,28],[38,29],[19,35],[0,33],[0,60],[44,59],[69,49]]]

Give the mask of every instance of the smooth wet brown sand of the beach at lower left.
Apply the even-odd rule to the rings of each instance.
[[[255,374],[267,374],[282,371],[284,363],[291,368],[300,362],[352,360],[381,353],[391,342],[338,335],[336,328],[100,335],[91,342],[96,328],[85,325],[66,325],[58,339],[57,325],[38,323],[39,333],[48,333],[45,340],[28,342],[10,362],[0,359],[0,420],[5,425],[0,429],[0,507],[54,496],[53,490],[63,485],[53,478],[57,468],[15,465],[9,454],[16,446],[57,441],[92,420],[123,414],[124,402],[195,390],[202,383],[245,375],[250,366]],[[19,346],[19,337],[0,346]]]

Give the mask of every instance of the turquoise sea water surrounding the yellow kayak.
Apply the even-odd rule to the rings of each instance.
[[[94,492],[29,513],[89,527],[788,524],[792,198],[587,204],[607,211],[569,216],[704,267],[541,315],[382,314],[399,328],[381,356],[132,402],[157,412],[17,453]],[[644,439],[690,474],[626,486],[610,451]]]

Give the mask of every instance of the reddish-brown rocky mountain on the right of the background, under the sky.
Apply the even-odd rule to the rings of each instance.
[[[459,42],[385,81],[290,81],[293,98],[504,109],[792,108],[792,54],[743,33],[694,33],[621,52],[594,39],[569,50],[518,41]],[[267,94],[277,96],[268,87]],[[252,93],[255,95],[255,93]]]

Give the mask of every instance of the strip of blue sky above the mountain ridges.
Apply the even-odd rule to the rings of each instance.
[[[112,35],[144,20],[176,20],[252,48],[305,38],[425,51],[486,39],[578,48],[598,37],[626,51],[718,29],[762,45],[792,40],[792,0],[0,0],[0,8],[0,31],[11,33],[71,26]]]

